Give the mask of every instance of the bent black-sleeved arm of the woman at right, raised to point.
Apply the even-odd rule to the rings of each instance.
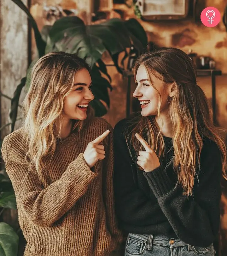
[[[199,184],[195,179],[194,198],[182,195],[183,189],[168,178],[162,165],[144,173],[163,213],[184,242],[209,246],[219,229],[221,197],[221,158],[217,146],[208,145],[201,153]]]

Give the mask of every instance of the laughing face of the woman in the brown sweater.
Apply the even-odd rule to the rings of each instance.
[[[94,99],[91,92],[91,77],[87,69],[81,69],[74,75],[74,86],[64,98],[63,115],[66,119],[84,120],[87,107]]]

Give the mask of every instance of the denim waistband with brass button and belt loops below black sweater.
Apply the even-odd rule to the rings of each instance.
[[[137,239],[147,241],[148,243],[148,250],[152,248],[152,244],[168,246],[168,247],[181,247],[181,246],[188,246],[189,250],[191,250],[191,245],[181,241],[180,239],[175,238],[168,238],[165,235],[141,235],[141,234],[134,234],[129,233],[131,237],[135,237]]]

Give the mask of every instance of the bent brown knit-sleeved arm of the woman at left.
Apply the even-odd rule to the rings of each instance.
[[[13,148],[8,140],[3,142],[2,153],[17,203],[33,223],[39,226],[52,225],[84,195],[97,174],[90,170],[81,153],[69,164],[59,180],[44,189],[34,168],[28,171],[29,163],[22,154],[8,157],[8,152]]]

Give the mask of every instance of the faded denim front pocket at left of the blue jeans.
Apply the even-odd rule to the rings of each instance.
[[[141,255],[146,248],[146,241],[128,236],[125,251],[131,255]]]

